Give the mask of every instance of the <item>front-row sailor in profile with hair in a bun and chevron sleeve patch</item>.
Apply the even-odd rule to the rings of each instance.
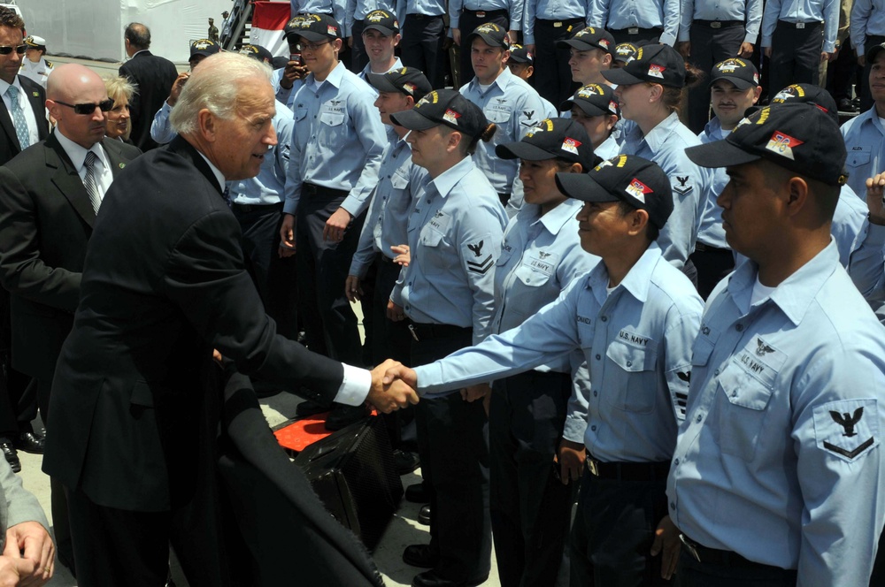
[[[409,317],[412,361],[430,362],[491,330],[495,263],[507,218],[470,153],[478,141],[489,141],[495,125],[454,90],[431,92],[390,119],[412,131],[412,161],[432,180],[409,219],[412,263],[390,294],[388,316]],[[405,562],[431,569],[412,585],[475,585],[489,576],[485,381],[416,407],[433,517],[430,544],[411,545],[403,554]]]

